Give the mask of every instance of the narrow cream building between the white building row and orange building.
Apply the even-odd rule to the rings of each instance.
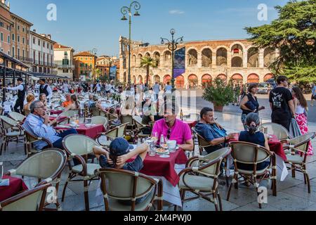
[[[57,75],[74,79],[74,49],[56,43],[54,46],[54,58],[57,64]]]

